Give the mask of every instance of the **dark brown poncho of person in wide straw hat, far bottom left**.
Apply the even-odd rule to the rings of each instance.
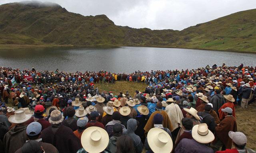
[[[28,140],[26,135],[27,125],[14,126],[4,135],[5,153],[14,153]]]

